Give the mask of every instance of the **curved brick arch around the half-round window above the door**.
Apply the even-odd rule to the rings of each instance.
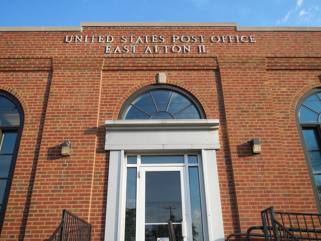
[[[133,88],[129,89],[124,95],[123,97],[118,101],[116,107],[115,107],[115,110],[114,110],[114,114],[113,114],[113,120],[117,120],[118,118],[118,115],[119,115],[119,111],[120,111],[120,108],[122,107],[122,105],[124,104],[124,102],[127,100],[127,98],[129,96],[131,96],[132,94],[134,94],[136,91],[146,87],[146,86],[149,86],[149,85],[154,85],[154,84],[157,84],[157,82],[155,81],[146,81],[146,82],[143,82],[143,83],[140,83],[139,85],[135,85]],[[192,94],[197,100],[198,102],[201,104],[204,112],[205,112],[205,115],[206,115],[206,119],[209,119],[210,118],[210,110],[208,109],[207,107],[207,104],[206,102],[204,101],[204,99],[202,98],[202,96],[200,94],[198,94],[194,89],[192,89],[191,87],[183,84],[183,83],[180,83],[180,82],[177,82],[177,81],[173,81],[173,80],[167,80],[167,83],[166,85],[174,85],[174,86],[177,86],[177,87],[180,87],[186,91],[188,91],[190,94]]]

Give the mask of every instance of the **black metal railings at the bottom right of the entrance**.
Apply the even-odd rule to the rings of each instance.
[[[264,237],[265,241],[312,241],[321,240],[321,214],[274,212],[273,207],[261,212],[262,226],[253,226],[246,233],[227,237]],[[252,232],[260,230],[261,232]]]

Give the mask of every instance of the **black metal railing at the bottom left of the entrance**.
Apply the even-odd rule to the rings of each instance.
[[[90,241],[91,224],[63,210],[61,224],[45,241]]]

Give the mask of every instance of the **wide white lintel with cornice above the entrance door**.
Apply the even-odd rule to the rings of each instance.
[[[107,120],[105,150],[220,149],[219,120]]]

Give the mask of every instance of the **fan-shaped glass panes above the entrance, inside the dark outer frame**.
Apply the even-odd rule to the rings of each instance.
[[[203,119],[198,107],[188,96],[171,89],[153,89],[132,101],[125,120]]]

